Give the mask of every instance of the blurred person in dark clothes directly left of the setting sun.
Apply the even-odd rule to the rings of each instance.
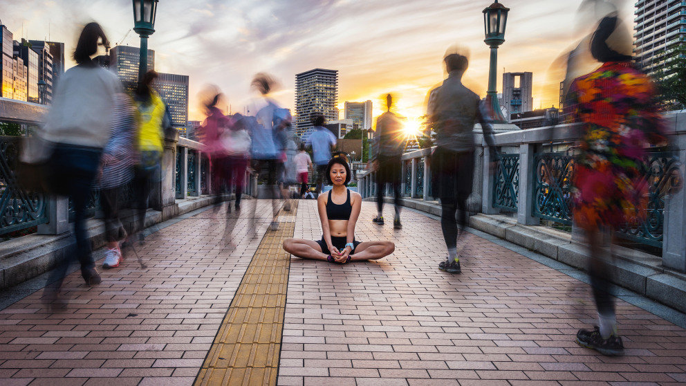
[[[393,229],[402,228],[400,224],[400,173],[402,172],[402,152],[407,145],[407,135],[403,131],[402,122],[396,114],[391,113],[393,98],[386,95],[387,111],[376,120],[376,142],[373,160],[376,169],[376,209],[377,215],[373,223],[384,225],[384,187],[391,184],[395,197],[396,214],[393,217]]]

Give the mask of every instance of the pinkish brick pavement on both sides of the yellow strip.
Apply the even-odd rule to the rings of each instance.
[[[291,260],[279,385],[686,383],[680,327],[620,301],[627,356],[596,355],[573,341],[595,320],[586,284],[479,237],[463,274],[441,273],[437,221],[405,210],[393,231],[374,212],[363,204],[358,238],[392,239],[390,257]],[[247,238],[232,214],[233,249],[212,216],[148,237],[145,269],[129,258],[92,288],[70,275],[67,311],[49,313],[43,291],[0,311],[0,385],[191,385],[268,224]],[[295,237],[319,236],[315,201],[300,201]]]

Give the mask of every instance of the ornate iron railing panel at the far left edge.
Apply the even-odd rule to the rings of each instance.
[[[17,182],[20,140],[0,136],[0,235],[48,222],[46,194],[27,192]]]

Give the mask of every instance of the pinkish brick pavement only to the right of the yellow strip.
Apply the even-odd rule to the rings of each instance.
[[[363,204],[356,234],[393,240],[393,255],[292,260],[279,385],[686,383],[684,329],[619,301],[627,356],[597,355],[574,342],[596,318],[588,285],[476,236],[463,273],[442,273],[438,221],[405,210],[393,230],[371,223],[375,209]],[[315,203],[298,223],[295,237],[319,238]]]

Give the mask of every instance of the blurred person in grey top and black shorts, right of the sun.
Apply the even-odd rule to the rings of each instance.
[[[441,230],[448,257],[438,269],[461,273],[458,239],[466,242],[467,198],[472,193],[474,178],[474,129],[481,123],[483,138],[494,149],[490,117],[479,95],[462,84],[469,60],[461,53],[449,53],[443,59],[448,77],[436,91],[429,123],[436,131],[436,147],[431,156],[432,189],[441,199]],[[497,156],[494,154],[494,156]],[[380,187],[378,187],[379,189]],[[456,219],[457,214],[457,219]]]

